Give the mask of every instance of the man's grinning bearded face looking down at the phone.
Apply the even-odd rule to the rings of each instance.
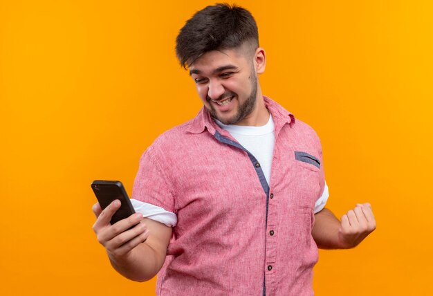
[[[224,124],[246,125],[256,108],[257,75],[243,48],[213,50],[190,65],[205,107]]]

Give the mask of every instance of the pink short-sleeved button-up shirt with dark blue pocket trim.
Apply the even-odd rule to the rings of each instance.
[[[270,186],[255,157],[204,107],[142,155],[132,198],[178,219],[158,295],[313,295],[311,229],[324,189],[320,140],[264,101],[275,122]]]

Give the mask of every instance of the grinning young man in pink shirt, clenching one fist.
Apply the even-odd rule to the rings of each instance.
[[[370,205],[341,222],[324,208],[320,140],[262,95],[266,53],[250,12],[208,6],[176,41],[203,109],[143,154],[137,214],[110,225],[119,202],[93,206],[98,240],[125,277],[159,272],[160,295],[312,295],[317,246],[358,245],[376,228]]]

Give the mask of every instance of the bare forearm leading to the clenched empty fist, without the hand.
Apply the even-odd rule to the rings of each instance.
[[[314,215],[313,239],[318,248],[321,249],[342,249],[338,239],[340,221],[330,210],[324,208]]]

